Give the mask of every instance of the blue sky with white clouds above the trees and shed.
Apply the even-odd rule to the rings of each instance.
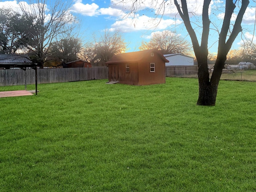
[[[26,1],[26,0],[25,0]],[[48,0],[48,3],[54,0]],[[65,3],[66,0],[63,0]],[[167,0],[165,7],[160,7],[159,1],[144,0],[137,6],[138,12],[127,14],[132,7],[130,0],[125,0],[125,4],[118,3],[120,0],[75,0],[72,3],[70,12],[80,19],[80,36],[85,42],[92,39],[92,34],[98,34],[104,29],[118,30],[122,33],[125,42],[128,44],[127,52],[137,51],[142,41],[148,42],[153,33],[162,30],[171,30],[177,35],[191,42],[186,28],[178,15],[173,0]],[[162,2],[162,1],[160,1]],[[188,0],[188,9],[191,12],[191,21],[200,42],[200,14],[202,13],[203,0]],[[209,37],[209,50],[211,53],[217,52],[215,42],[218,41],[218,30],[220,31],[222,19],[224,17],[225,1],[214,0],[210,6],[210,20],[212,22]],[[18,7],[17,1],[0,0],[0,7]],[[162,15],[156,18],[156,15]],[[236,18],[237,10],[233,16]],[[233,44],[232,49],[237,49],[243,40],[256,40],[254,38],[255,5],[249,6],[243,20],[243,33],[240,33]]]

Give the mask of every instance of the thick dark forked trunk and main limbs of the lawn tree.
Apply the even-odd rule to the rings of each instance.
[[[178,4],[177,0],[174,0],[174,4],[184,21],[188,34],[192,40],[193,49],[198,60],[198,82],[199,82],[199,96],[198,105],[208,105],[213,106],[216,102],[216,96],[218,91],[218,85],[220,81],[220,76],[222,74],[222,69],[224,67],[224,62],[226,60],[226,55],[230,50],[232,43],[234,42],[236,36],[242,31],[241,22],[249,4],[249,0],[242,0],[242,6],[237,14],[236,21],[233,26],[233,30],[227,39],[228,32],[230,32],[230,21],[234,9],[236,8],[235,3],[232,0],[226,0],[225,16],[219,35],[219,45],[218,45],[218,55],[214,66],[214,71],[212,73],[211,79],[209,78],[208,66],[207,66],[207,56],[208,56],[208,38],[210,30],[210,19],[209,19],[209,6],[211,0],[204,0],[203,11],[202,11],[202,38],[201,45],[199,45],[196,33],[192,28],[190,22],[190,16],[188,14],[188,7],[186,0],[180,0],[181,6]],[[240,2],[239,2],[240,3]]]

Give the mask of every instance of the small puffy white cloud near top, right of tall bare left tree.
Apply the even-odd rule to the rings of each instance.
[[[80,13],[84,16],[96,16],[98,15],[99,6],[95,3],[92,4],[82,4],[81,0],[78,0],[71,8],[71,11]]]

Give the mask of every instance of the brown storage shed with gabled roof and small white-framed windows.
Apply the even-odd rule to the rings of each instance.
[[[114,55],[108,64],[108,80],[122,84],[150,85],[165,83],[165,63],[158,50]]]

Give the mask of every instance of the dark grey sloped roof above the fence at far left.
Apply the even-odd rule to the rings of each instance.
[[[33,67],[36,64],[29,59],[28,55],[24,54],[0,54],[0,67]]]

